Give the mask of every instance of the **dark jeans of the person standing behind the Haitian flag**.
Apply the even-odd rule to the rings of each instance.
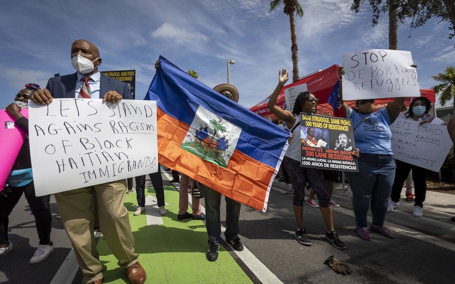
[[[200,183],[201,189],[205,194],[205,227],[208,234],[208,243],[221,242],[221,221],[219,206],[221,204],[221,193],[211,189],[210,187]],[[236,239],[238,237],[238,218],[240,217],[241,204],[234,199],[225,197],[226,200],[226,231],[224,236],[226,241]]]

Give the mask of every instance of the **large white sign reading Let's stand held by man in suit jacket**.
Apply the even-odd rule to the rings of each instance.
[[[155,101],[30,101],[29,118],[37,196],[158,170]]]

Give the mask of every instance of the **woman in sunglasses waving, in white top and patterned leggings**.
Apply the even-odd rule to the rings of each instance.
[[[290,177],[292,189],[294,191],[293,209],[297,221],[297,230],[295,238],[303,245],[311,245],[311,239],[303,227],[303,202],[305,199],[305,182],[308,181],[314,188],[317,198],[319,199],[319,208],[322,212],[327,231],[325,236],[331,243],[339,249],[346,245],[339,239],[333,228],[332,208],[330,207],[330,197],[325,186],[324,174],[321,169],[301,167],[300,166],[300,112],[315,113],[317,98],[314,94],[307,91],[300,92],[295,100],[292,112],[283,110],[276,105],[276,99],[284,83],[288,79],[286,69],[278,72],[278,85],[270,96],[267,107],[279,119],[286,123],[290,129],[292,139],[283,158],[284,167]]]

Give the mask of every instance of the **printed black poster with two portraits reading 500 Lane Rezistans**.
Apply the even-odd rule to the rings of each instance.
[[[301,166],[358,171],[352,120],[300,113]]]

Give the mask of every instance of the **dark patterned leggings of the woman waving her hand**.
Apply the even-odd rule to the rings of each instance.
[[[294,191],[294,199],[292,204],[295,206],[303,206],[305,201],[305,183],[311,185],[314,189],[320,207],[330,207],[330,197],[327,187],[325,186],[325,178],[321,169],[301,167],[298,160],[294,160],[287,156],[283,159],[287,174],[289,174],[290,183]]]

